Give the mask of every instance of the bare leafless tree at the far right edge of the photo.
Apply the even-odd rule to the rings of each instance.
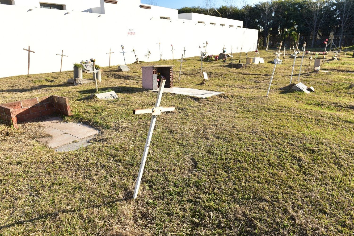
[[[353,23],[354,0],[336,0],[336,8],[338,11],[339,26],[341,27],[341,37],[339,38],[338,47],[341,47],[343,31]]]

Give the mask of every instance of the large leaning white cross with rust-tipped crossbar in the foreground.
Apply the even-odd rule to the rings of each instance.
[[[140,187],[141,177],[143,175],[144,166],[145,166],[145,162],[146,162],[146,157],[148,156],[150,142],[151,142],[151,138],[152,138],[153,132],[154,132],[156,117],[158,115],[161,115],[162,112],[174,111],[175,110],[175,107],[160,107],[160,102],[161,102],[162,92],[163,92],[164,87],[165,87],[165,82],[166,82],[166,79],[162,79],[161,84],[160,84],[160,88],[159,88],[159,92],[157,94],[156,103],[155,103],[155,107],[154,108],[152,108],[152,109],[151,108],[136,109],[136,110],[133,111],[134,115],[152,114],[152,118],[151,118],[151,122],[150,122],[150,128],[149,128],[149,132],[148,132],[148,137],[146,138],[146,143],[145,143],[145,148],[144,148],[142,160],[141,160],[141,163],[140,163],[138,178],[137,178],[136,184],[135,184],[134,195],[133,195],[134,199],[136,199],[137,196],[138,196],[138,191],[139,191],[139,187]]]

